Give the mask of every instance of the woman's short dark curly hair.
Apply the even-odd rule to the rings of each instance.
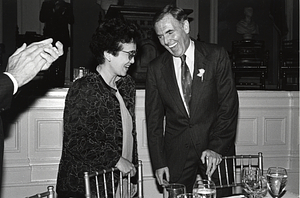
[[[90,42],[90,50],[99,64],[104,63],[104,52],[118,55],[122,43],[137,43],[140,31],[137,26],[121,18],[103,21],[96,29]]]

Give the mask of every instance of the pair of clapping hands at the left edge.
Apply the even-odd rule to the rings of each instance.
[[[6,71],[17,81],[18,86],[32,80],[38,72],[46,70],[63,54],[63,45],[56,42],[52,46],[53,39],[34,42],[28,46],[24,43],[8,59]]]

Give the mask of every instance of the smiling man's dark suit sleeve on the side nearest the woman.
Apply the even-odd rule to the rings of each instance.
[[[149,65],[146,80],[145,110],[148,148],[154,171],[167,166],[163,143],[164,105],[160,98],[158,86],[155,69]]]

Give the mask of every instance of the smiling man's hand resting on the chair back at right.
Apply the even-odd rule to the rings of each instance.
[[[214,171],[222,161],[222,156],[212,150],[205,150],[202,152],[201,161],[207,165],[206,175],[211,177]]]

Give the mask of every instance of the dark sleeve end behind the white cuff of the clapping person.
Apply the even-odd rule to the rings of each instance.
[[[0,74],[0,112],[8,109],[13,98],[14,85],[5,74]]]

